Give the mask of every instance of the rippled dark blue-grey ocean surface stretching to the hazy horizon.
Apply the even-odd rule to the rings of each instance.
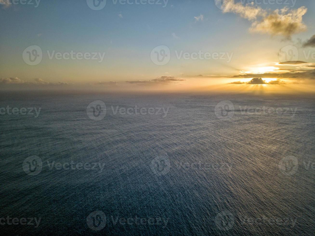
[[[312,96],[1,92],[1,107],[4,235],[314,235]]]

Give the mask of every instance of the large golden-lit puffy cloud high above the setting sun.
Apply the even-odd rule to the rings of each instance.
[[[215,1],[221,2],[221,0]],[[225,0],[223,1],[222,12],[232,12],[250,20],[252,26],[249,32],[279,35],[290,39],[293,34],[304,32],[307,29],[302,19],[307,12],[306,7],[265,10],[257,7],[254,3],[243,5],[240,2],[235,3],[234,0]]]

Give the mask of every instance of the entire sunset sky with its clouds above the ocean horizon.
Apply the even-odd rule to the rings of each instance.
[[[0,0],[0,89],[315,90],[309,0]]]

